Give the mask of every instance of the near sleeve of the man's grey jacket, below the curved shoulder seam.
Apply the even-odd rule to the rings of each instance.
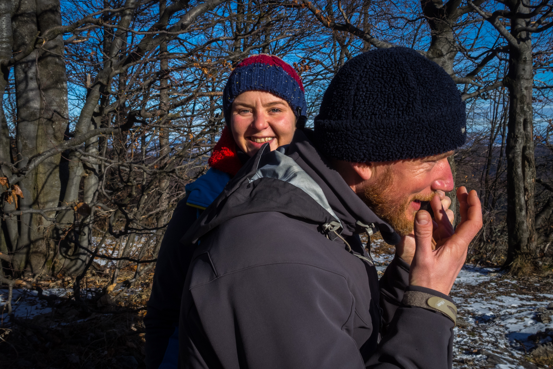
[[[208,271],[209,263],[206,256],[202,268]],[[447,367],[453,323],[422,308],[399,308],[391,334],[363,357],[354,328],[378,333],[378,326],[368,311],[356,311],[345,276],[314,266],[252,267],[189,291],[179,330],[181,367],[203,367],[194,363],[206,357],[220,367],[251,369]]]

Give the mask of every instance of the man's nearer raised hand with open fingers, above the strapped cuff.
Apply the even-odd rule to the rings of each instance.
[[[449,294],[457,274],[467,257],[468,244],[482,228],[482,209],[476,191],[467,193],[465,187],[457,189],[461,222],[453,232],[451,224],[442,214],[436,214],[436,225],[427,211],[419,210],[415,216],[415,255],[411,262],[409,284]],[[432,200],[434,202],[434,199]],[[434,206],[432,206],[434,209]],[[449,235],[448,235],[449,234]],[[432,236],[437,235],[436,249],[432,250]]]

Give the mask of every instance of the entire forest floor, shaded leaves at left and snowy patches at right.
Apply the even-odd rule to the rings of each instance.
[[[394,247],[373,241],[379,275]],[[128,271],[129,275],[133,271]],[[100,298],[106,279],[86,280],[87,309],[71,298],[71,282],[34,281],[13,292],[14,318],[0,321],[4,369],[144,368],[145,303],[153,274],[137,288]],[[122,271],[121,278],[126,278]],[[38,292],[38,288],[42,293]],[[8,290],[0,288],[0,313]],[[553,278],[513,279],[498,268],[463,267],[451,292],[458,308],[453,367],[553,368]]]

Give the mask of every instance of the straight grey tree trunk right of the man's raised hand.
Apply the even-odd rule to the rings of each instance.
[[[528,13],[521,2],[512,2],[513,12]],[[511,34],[518,47],[510,46],[509,71],[504,83],[509,89],[507,134],[507,230],[508,250],[505,266],[515,273],[523,272],[528,257],[535,251],[534,180],[536,174],[533,142],[533,65],[531,34],[515,33],[526,26],[526,20],[513,19]]]

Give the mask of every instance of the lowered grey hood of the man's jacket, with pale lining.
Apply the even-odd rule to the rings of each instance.
[[[399,242],[392,227],[353,193],[300,129],[296,130],[290,145],[270,151],[269,144],[264,144],[228,182],[181,242],[195,243],[227,220],[265,211],[280,212],[321,226],[332,223],[340,226],[345,236],[369,228],[372,234],[378,228],[386,242]]]

